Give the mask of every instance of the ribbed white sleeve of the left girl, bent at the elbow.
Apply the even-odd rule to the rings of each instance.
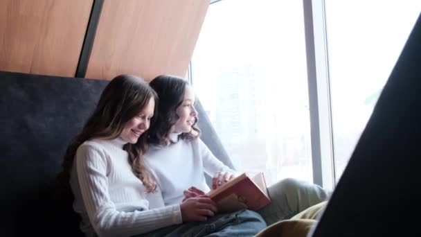
[[[179,205],[132,212],[117,211],[109,197],[104,151],[81,146],[76,154],[80,192],[98,236],[134,236],[181,223]]]

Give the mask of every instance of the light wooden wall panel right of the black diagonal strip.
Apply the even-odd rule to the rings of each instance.
[[[87,78],[185,76],[209,0],[105,0]]]

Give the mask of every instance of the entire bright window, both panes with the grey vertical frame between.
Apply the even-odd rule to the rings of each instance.
[[[333,188],[420,15],[421,1],[216,2],[206,15],[190,76],[233,162],[249,173],[264,170],[269,184],[284,177],[312,182],[314,173],[317,182]],[[308,61],[310,98],[318,107],[312,107],[312,126],[320,128],[313,143],[305,40],[316,58]],[[314,164],[312,146],[320,148],[314,149],[320,152]]]

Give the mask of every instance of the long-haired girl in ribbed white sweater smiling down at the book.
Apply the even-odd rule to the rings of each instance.
[[[143,164],[144,132],[156,115],[156,103],[156,93],[141,78],[117,76],[66,150],[60,179],[70,184],[73,209],[82,218],[80,228],[86,236],[180,236],[226,230],[194,222],[197,216],[213,216],[216,207],[210,198],[189,198],[165,207],[159,186]],[[265,227],[260,216],[249,220],[257,223],[255,234]],[[235,227],[243,228],[240,222]]]

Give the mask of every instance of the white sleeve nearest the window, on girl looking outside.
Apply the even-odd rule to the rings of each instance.
[[[201,159],[203,160],[203,167],[205,172],[213,177],[215,173],[218,171],[225,171],[235,173],[235,170],[232,170],[228,166],[224,165],[219,159],[217,159],[209,150],[208,146],[201,141],[201,139],[197,139],[197,146],[199,146],[199,152],[201,155]]]

